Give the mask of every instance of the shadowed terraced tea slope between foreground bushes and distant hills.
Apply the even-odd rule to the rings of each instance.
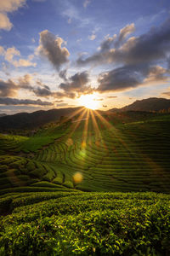
[[[31,137],[1,135],[0,193],[169,192],[170,116],[117,120],[82,113]]]

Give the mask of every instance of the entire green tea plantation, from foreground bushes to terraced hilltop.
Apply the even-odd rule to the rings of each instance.
[[[169,255],[169,143],[169,114],[1,134],[0,255]]]

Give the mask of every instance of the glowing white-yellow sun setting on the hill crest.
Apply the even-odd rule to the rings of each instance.
[[[94,94],[82,95],[79,98],[79,102],[82,106],[90,109],[97,109],[99,107],[99,102],[95,100]]]

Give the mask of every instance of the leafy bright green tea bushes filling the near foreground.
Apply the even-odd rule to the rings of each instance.
[[[1,255],[170,253],[169,195],[59,192],[50,196],[13,199],[14,213],[1,218]]]

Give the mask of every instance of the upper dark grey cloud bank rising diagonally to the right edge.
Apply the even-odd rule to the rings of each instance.
[[[127,36],[127,32],[132,30],[133,26],[129,30],[122,29],[117,42],[120,42],[122,38]],[[151,28],[149,32],[144,33],[138,38],[128,38],[118,48],[110,49],[111,44],[109,42],[107,42],[108,46],[105,52],[101,48],[99,52],[94,53],[94,55],[86,59],[80,57],[77,60],[77,64],[82,66],[90,63],[95,65],[104,63],[136,65],[139,63],[165,60],[170,50],[170,19],[166,20],[160,27]],[[103,44],[106,43],[103,42]]]

